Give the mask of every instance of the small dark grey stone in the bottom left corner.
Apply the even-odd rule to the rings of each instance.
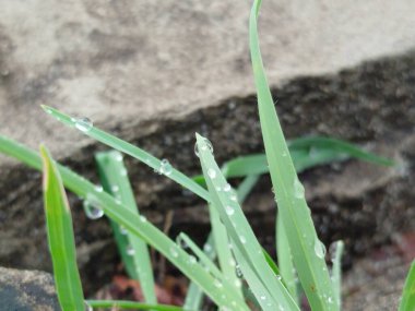
[[[59,311],[52,276],[40,271],[0,267],[0,310]]]

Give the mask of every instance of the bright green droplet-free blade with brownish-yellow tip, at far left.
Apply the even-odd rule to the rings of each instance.
[[[68,199],[59,171],[44,146],[40,146],[40,154],[47,234],[59,303],[63,311],[83,311],[84,297]]]

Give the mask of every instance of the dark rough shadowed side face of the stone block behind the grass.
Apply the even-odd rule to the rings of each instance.
[[[414,83],[415,52],[411,52],[336,75],[297,79],[273,89],[287,137],[331,135],[361,144],[400,164],[400,168],[386,169],[349,160],[300,176],[324,243],[337,239],[346,242],[345,268],[371,250],[392,243],[398,232],[415,229]],[[141,135],[142,128],[146,132],[152,129],[151,133]],[[215,108],[181,119],[154,120],[134,127],[120,124],[111,132],[157,157],[168,158],[189,175],[200,171],[192,152],[194,132],[213,142],[220,164],[263,149],[254,96],[228,98]],[[97,181],[93,154],[102,149],[105,147],[91,143],[62,162]],[[126,158],[126,162],[139,206],[147,218],[162,228],[167,211],[173,208],[171,237],[186,231],[198,242],[203,241],[209,231],[203,202],[137,160]],[[50,271],[39,174],[23,167],[5,168],[0,184],[0,264]],[[107,222],[86,219],[80,200],[73,195],[70,203],[81,273],[86,292],[92,294],[109,282],[119,259]],[[261,242],[273,252],[275,205],[268,178],[260,181],[245,211]]]

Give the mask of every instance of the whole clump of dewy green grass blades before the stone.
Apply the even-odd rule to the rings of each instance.
[[[250,48],[265,154],[216,164],[211,142],[197,134],[197,155],[202,175],[188,177],[166,159],[158,159],[138,146],[115,137],[85,118],[76,119],[51,107],[44,109],[62,123],[116,149],[96,155],[100,186],[95,186],[55,163],[42,147],[34,151],[0,136],[0,152],[44,171],[45,211],[57,292],[62,310],[120,307],[140,310],[200,310],[208,296],[222,311],[300,310],[306,296],[316,311],[341,310],[341,256],[343,242],[336,242],[333,266],[325,262],[325,247],[319,240],[304,187],[297,174],[312,166],[356,157],[380,165],[389,159],[328,137],[284,137],[264,74],[257,35],[261,1],[254,1],[250,15]],[[212,232],[203,248],[181,232],[174,241],[140,215],[134,202],[122,154],[130,155],[181,184],[206,202]],[[241,204],[260,175],[270,174],[277,206],[276,264],[258,242]],[[227,179],[242,178],[238,189]],[[143,288],[144,302],[84,300],[75,262],[72,220],[63,186],[83,198],[92,218],[106,215],[131,278]],[[153,247],[189,279],[182,308],[157,303],[147,248]],[[186,247],[186,248],[185,248]],[[297,280],[298,277],[298,280]],[[407,276],[400,310],[414,310],[414,264]]]

